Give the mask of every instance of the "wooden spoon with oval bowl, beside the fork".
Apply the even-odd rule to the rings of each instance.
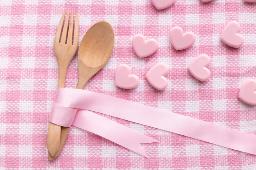
[[[91,77],[96,74],[109,60],[114,48],[115,35],[112,26],[106,21],[94,24],[84,35],[78,51],[79,79],[76,88],[83,89]],[[54,157],[61,154],[70,128],[61,127],[61,141]]]

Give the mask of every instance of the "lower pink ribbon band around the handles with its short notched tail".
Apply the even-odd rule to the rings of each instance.
[[[71,125],[87,130],[125,148],[147,157],[140,144],[157,142],[115,121],[97,115],[89,110],[69,108],[54,102],[49,121],[54,124],[70,127]]]

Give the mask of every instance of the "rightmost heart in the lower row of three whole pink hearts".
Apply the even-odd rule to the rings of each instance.
[[[207,81],[210,78],[211,72],[208,68],[206,68],[210,63],[210,58],[206,54],[198,55],[194,58],[194,60],[189,64],[189,72],[196,79],[201,82]]]

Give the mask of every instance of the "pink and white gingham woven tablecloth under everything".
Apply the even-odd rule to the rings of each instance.
[[[143,144],[148,159],[107,139],[71,127],[61,155],[48,161],[48,116],[58,80],[53,50],[63,11],[79,12],[79,42],[92,24],[106,20],[115,31],[112,56],[85,89],[212,122],[256,135],[256,107],[238,99],[240,86],[256,79],[256,4],[243,0],[176,0],[157,10],[151,0],[2,0],[0,2],[0,170],[255,170],[256,156],[108,116],[158,143]],[[245,42],[234,49],[220,42],[230,21],[241,25]],[[176,51],[169,31],[180,26],[196,35],[189,49]],[[136,34],[154,38],[158,50],[139,58]],[[187,70],[200,54],[211,58],[211,77],[199,82]],[[146,80],[157,63],[168,68],[168,87]],[[132,90],[117,88],[115,71],[128,64],[139,79]],[[77,53],[65,87],[78,80]],[[146,117],[145,117],[146,119]],[[184,126],[186,126],[184,124]]]

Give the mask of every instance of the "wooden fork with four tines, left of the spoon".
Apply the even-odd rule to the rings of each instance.
[[[75,24],[74,24],[74,35],[73,35],[73,12],[71,14],[69,23],[70,12],[67,13],[67,18],[64,23],[65,11],[61,17],[61,21],[58,25],[56,35],[54,38],[54,53],[58,61],[58,87],[64,88],[65,78],[67,73],[67,67],[73,59],[77,48],[78,48],[78,13],[76,13]],[[64,25],[63,25],[64,23]],[[74,37],[74,38],[73,38]],[[65,141],[61,141],[61,127],[53,123],[49,123],[48,133],[47,133],[47,148],[49,152],[49,161],[52,161],[54,156],[57,154],[60,144]],[[64,145],[63,144],[63,145]]]

